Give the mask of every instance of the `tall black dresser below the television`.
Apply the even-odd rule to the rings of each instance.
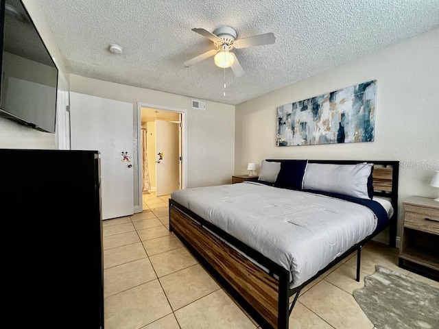
[[[0,149],[1,321],[104,328],[99,152]]]

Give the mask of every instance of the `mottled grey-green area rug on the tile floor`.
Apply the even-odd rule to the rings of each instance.
[[[377,329],[438,329],[439,288],[376,265],[354,298]]]

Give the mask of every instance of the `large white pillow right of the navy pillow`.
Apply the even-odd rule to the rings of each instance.
[[[366,162],[359,164],[308,163],[303,178],[303,188],[370,199],[368,178],[372,167],[372,163]]]

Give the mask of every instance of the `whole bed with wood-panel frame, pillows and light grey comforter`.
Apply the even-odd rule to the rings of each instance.
[[[263,160],[257,182],[176,191],[169,230],[262,328],[288,329],[300,290],[390,228],[397,161]],[[290,297],[292,304],[289,306]]]

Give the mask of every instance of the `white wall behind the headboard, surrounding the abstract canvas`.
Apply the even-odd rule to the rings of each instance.
[[[294,58],[292,58],[294,60]],[[377,80],[375,141],[276,147],[276,108]],[[439,29],[337,66],[236,107],[235,173],[264,158],[399,160],[401,202],[437,197],[429,186],[439,170]]]

